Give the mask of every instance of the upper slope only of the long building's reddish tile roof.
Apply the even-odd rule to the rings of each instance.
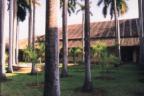
[[[91,38],[114,38],[115,22],[95,22],[91,23]],[[138,37],[138,19],[120,20],[121,37]],[[60,29],[60,39],[62,39],[62,30]],[[82,24],[68,26],[69,39],[79,39],[82,37]]]

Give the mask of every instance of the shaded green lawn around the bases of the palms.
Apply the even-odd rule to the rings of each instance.
[[[61,96],[144,96],[144,76],[134,64],[125,64],[111,69],[109,73],[101,73],[98,65],[92,65],[92,80],[96,92],[81,93],[84,80],[84,67],[69,67],[70,76],[61,78]],[[2,96],[43,96],[43,87],[34,87],[37,80],[43,82],[43,73],[37,76],[14,73],[7,74],[9,81],[1,83]],[[111,76],[113,79],[97,79],[99,76]],[[96,95],[100,91],[102,95]]]

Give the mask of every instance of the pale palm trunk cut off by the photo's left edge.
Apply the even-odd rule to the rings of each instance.
[[[5,35],[4,35],[4,10],[5,0],[0,0],[0,80],[6,78],[5,75]],[[1,81],[0,81],[1,82]]]

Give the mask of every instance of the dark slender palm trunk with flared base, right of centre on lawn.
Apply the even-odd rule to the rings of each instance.
[[[90,60],[90,14],[89,0],[85,0],[85,80],[83,91],[92,91],[91,60]]]

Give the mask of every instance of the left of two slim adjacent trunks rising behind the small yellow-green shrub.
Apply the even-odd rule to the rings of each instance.
[[[29,24],[28,24],[28,46],[30,47],[32,45],[32,36],[33,36],[33,14],[32,14],[32,0],[29,0],[30,4],[30,12],[29,12]]]

